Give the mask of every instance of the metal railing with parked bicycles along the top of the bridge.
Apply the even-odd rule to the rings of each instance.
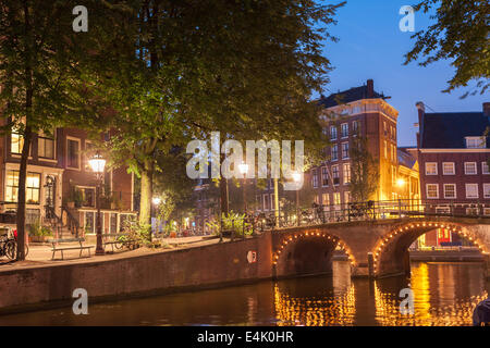
[[[490,201],[437,202],[420,200],[385,200],[351,202],[345,204],[313,204],[296,211],[248,213],[245,222],[235,222],[244,229],[243,235],[274,228],[320,225],[354,221],[384,219],[416,219],[425,216],[490,217]]]

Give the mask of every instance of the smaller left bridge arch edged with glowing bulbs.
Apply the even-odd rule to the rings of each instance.
[[[348,246],[339,237],[320,229],[295,231],[277,236],[272,253],[274,275],[278,277],[332,272],[332,257],[339,247],[351,266],[356,260]]]

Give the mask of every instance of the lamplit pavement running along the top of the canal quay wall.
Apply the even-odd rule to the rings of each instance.
[[[207,237],[207,238],[206,238]],[[219,238],[209,239],[209,236],[193,236],[193,237],[181,237],[181,238],[162,238],[169,248],[138,248],[136,250],[127,250],[123,248],[121,250],[115,250],[112,253],[112,248],[107,246],[107,253],[103,256],[95,256],[96,245],[95,243],[85,243],[84,246],[93,246],[90,249],[90,257],[88,257],[88,250],[82,252],[83,257],[79,258],[79,250],[66,250],[64,252],[64,260],[61,260],[61,252],[57,251],[56,259],[51,260],[52,251],[51,245],[48,244],[30,244],[29,252],[25,261],[11,261],[7,257],[0,258],[0,272],[9,272],[25,268],[37,268],[37,266],[57,266],[62,264],[73,264],[73,263],[89,263],[89,262],[100,262],[109,260],[121,260],[126,258],[134,258],[145,254],[158,253],[158,252],[171,252],[175,250],[182,250],[187,248],[197,248],[200,246],[212,245],[219,243]],[[63,246],[78,246],[75,244],[64,244]]]

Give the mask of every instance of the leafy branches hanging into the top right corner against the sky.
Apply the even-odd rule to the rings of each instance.
[[[488,14],[490,4],[487,0],[424,0],[415,7],[424,13],[436,10],[431,17],[437,22],[426,30],[416,33],[414,48],[405,55],[405,64],[424,60],[427,66],[440,60],[451,60],[455,67],[454,76],[448,82],[444,92],[466,87],[476,80],[474,91],[483,95],[489,87],[490,49],[488,41]]]

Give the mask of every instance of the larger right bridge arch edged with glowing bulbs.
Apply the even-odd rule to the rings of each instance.
[[[470,240],[482,254],[488,254],[490,243],[486,241],[470,225],[441,221],[418,221],[397,225],[379,238],[373,250],[375,276],[409,273],[408,247],[421,235],[445,228]]]

